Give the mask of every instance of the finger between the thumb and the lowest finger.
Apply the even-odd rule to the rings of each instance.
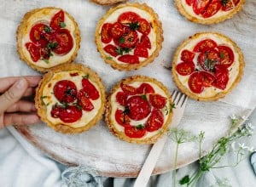
[[[6,112],[15,112],[15,111],[23,111],[23,112],[31,112],[37,111],[35,105],[32,102],[26,100],[19,100],[14,105],[11,105]]]

